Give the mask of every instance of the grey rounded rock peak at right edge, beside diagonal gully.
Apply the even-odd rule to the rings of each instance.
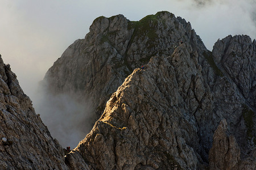
[[[236,83],[246,102],[256,110],[256,41],[249,36],[228,36],[213,48],[214,61]]]

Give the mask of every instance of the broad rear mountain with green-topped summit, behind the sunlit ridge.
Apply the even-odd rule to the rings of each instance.
[[[44,79],[51,92],[90,97],[99,118],[109,96],[135,68],[152,56],[170,56],[181,41],[189,42],[200,56],[208,51],[191,24],[170,12],[148,15],[138,22],[123,15],[100,16],[85,39],[69,46]]]

